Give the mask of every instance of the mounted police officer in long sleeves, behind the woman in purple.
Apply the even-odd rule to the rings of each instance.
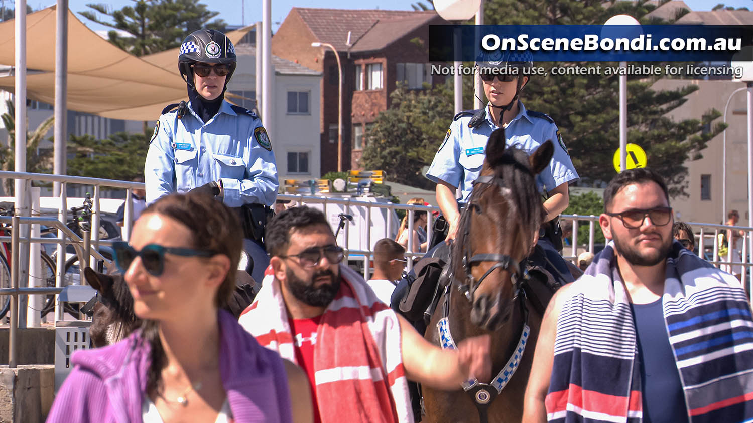
[[[266,207],[275,203],[279,182],[261,120],[224,101],[236,65],[233,43],[222,32],[200,29],[181,44],[178,70],[189,101],[166,107],[154,127],[144,169],[146,201],[200,191],[235,207],[244,222],[244,248],[255,259],[253,276],[261,281],[269,263],[261,244]]]

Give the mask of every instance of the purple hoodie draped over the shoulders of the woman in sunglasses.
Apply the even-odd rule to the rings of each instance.
[[[230,313],[219,310],[218,322],[220,376],[233,420],[290,423],[290,391],[282,358],[260,346]],[[134,331],[114,345],[75,352],[75,367],[55,397],[47,422],[142,421],[151,348],[140,334]]]

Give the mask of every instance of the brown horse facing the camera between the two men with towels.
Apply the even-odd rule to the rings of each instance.
[[[424,421],[517,422],[523,415],[523,392],[552,290],[523,276],[519,263],[531,251],[545,216],[535,175],[552,153],[551,141],[528,156],[517,148],[505,149],[503,129],[489,137],[486,160],[450,252],[444,295],[425,337],[452,347],[453,341],[490,333],[495,379],[467,383],[466,391],[423,388]]]

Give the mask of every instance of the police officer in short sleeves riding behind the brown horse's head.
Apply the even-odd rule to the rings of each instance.
[[[518,99],[529,80],[528,76],[523,75],[523,68],[532,67],[531,53],[482,53],[476,65],[489,104],[484,109],[469,110],[455,116],[426,174],[437,183],[437,204],[450,224],[446,238],[448,243],[455,238],[458,230],[459,205],[465,204],[471,195],[473,182],[479,176],[486,157],[486,142],[497,128],[505,128],[508,147],[518,146],[528,153],[547,140],[553,141],[554,154],[550,165],[536,177],[539,191],[547,195],[544,201],[546,222],[555,219],[568,207],[569,183],[578,180],[578,173],[553,119],[544,113],[526,110],[523,101]],[[550,256],[550,252],[559,255],[546,237],[539,245],[547,250],[547,256]],[[559,270],[566,272],[561,256],[559,261]]]

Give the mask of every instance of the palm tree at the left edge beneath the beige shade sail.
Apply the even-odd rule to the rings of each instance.
[[[0,163],[2,163],[0,168],[3,171],[13,171],[15,165],[14,149],[16,146],[16,105],[11,100],[6,100],[5,105],[8,107],[8,112],[2,113],[0,119],[2,119],[5,129],[8,130],[8,144],[10,147],[0,147]],[[44,173],[44,171],[50,170],[50,161],[49,157],[47,157],[49,155],[39,154],[38,147],[41,140],[44,139],[44,134],[47,134],[47,131],[50,131],[54,124],[55,116],[50,116],[44,119],[44,122],[41,122],[34,131],[26,132],[27,172]],[[29,126],[29,119],[26,119],[26,126]],[[5,192],[9,195],[13,194],[12,180],[5,181]]]

